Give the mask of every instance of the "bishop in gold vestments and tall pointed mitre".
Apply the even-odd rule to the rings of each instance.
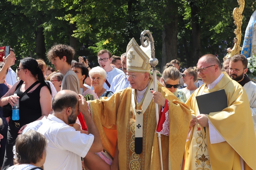
[[[126,52],[127,77],[131,87],[109,98],[89,101],[90,114],[100,132],[103,148],[114,157],[113,143],[104,129],[116,129],[120,170],[160,169],[155,112],[157,103],[159,110],[167,108],[166,116],[170,120],[169,136],[161,137],[163,168],[180,169],[191,111],[160,83],[158,92],[154,90],[153,79],[149,74],[149,57],[134,38],[129,42]]]

